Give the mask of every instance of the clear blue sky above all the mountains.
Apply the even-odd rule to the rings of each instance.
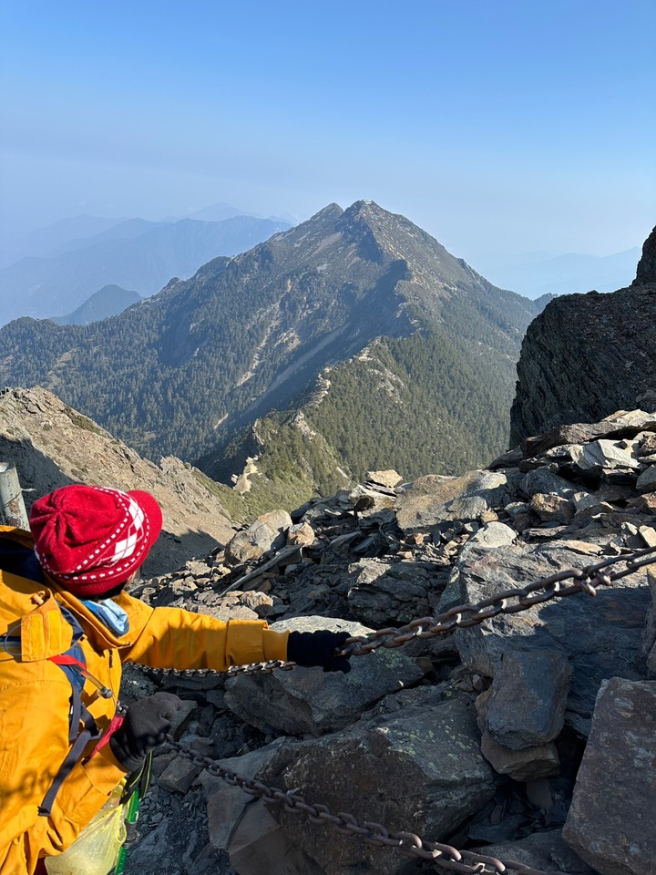
[[[653,0],[0,10],[4,233],[372,199],[471,259],[620,252],[656,221]]]

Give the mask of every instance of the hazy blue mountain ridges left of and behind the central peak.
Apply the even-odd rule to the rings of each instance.
[[[108,221],[78,217],[32,235],[33,249],[49,254],[30,255],[0,270],[0,324],[26,315],[64,316],[108,284],[148,296],[171,278],[190,277],[212,258],[244,252],[290,227],[248,215]]]

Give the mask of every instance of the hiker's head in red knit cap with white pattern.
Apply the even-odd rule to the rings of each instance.
[[[56,489],[30,512],[38,560],[83,599],[116,592],[143,564],[161,527],[159,504],[148,492],[99,486]]]

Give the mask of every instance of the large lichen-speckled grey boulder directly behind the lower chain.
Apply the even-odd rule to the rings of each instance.
[[[281,748],[262,777],[283,789],[301,787],[307,802],[360,823],[382,823],[443,840],[495,793],[480,751],[476,713],[466,697],[441,699],[377,715],[345,732]],[[344,837],[329,825],[272,808],[272,816],[325,875],[393,875],[408,865],[394,849]]]

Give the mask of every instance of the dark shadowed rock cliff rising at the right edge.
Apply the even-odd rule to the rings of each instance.
[[[551,427],[630,410],[656,386],[653,236],[630,288],[560,296],[528,326],[510,415],[511,447]]]

